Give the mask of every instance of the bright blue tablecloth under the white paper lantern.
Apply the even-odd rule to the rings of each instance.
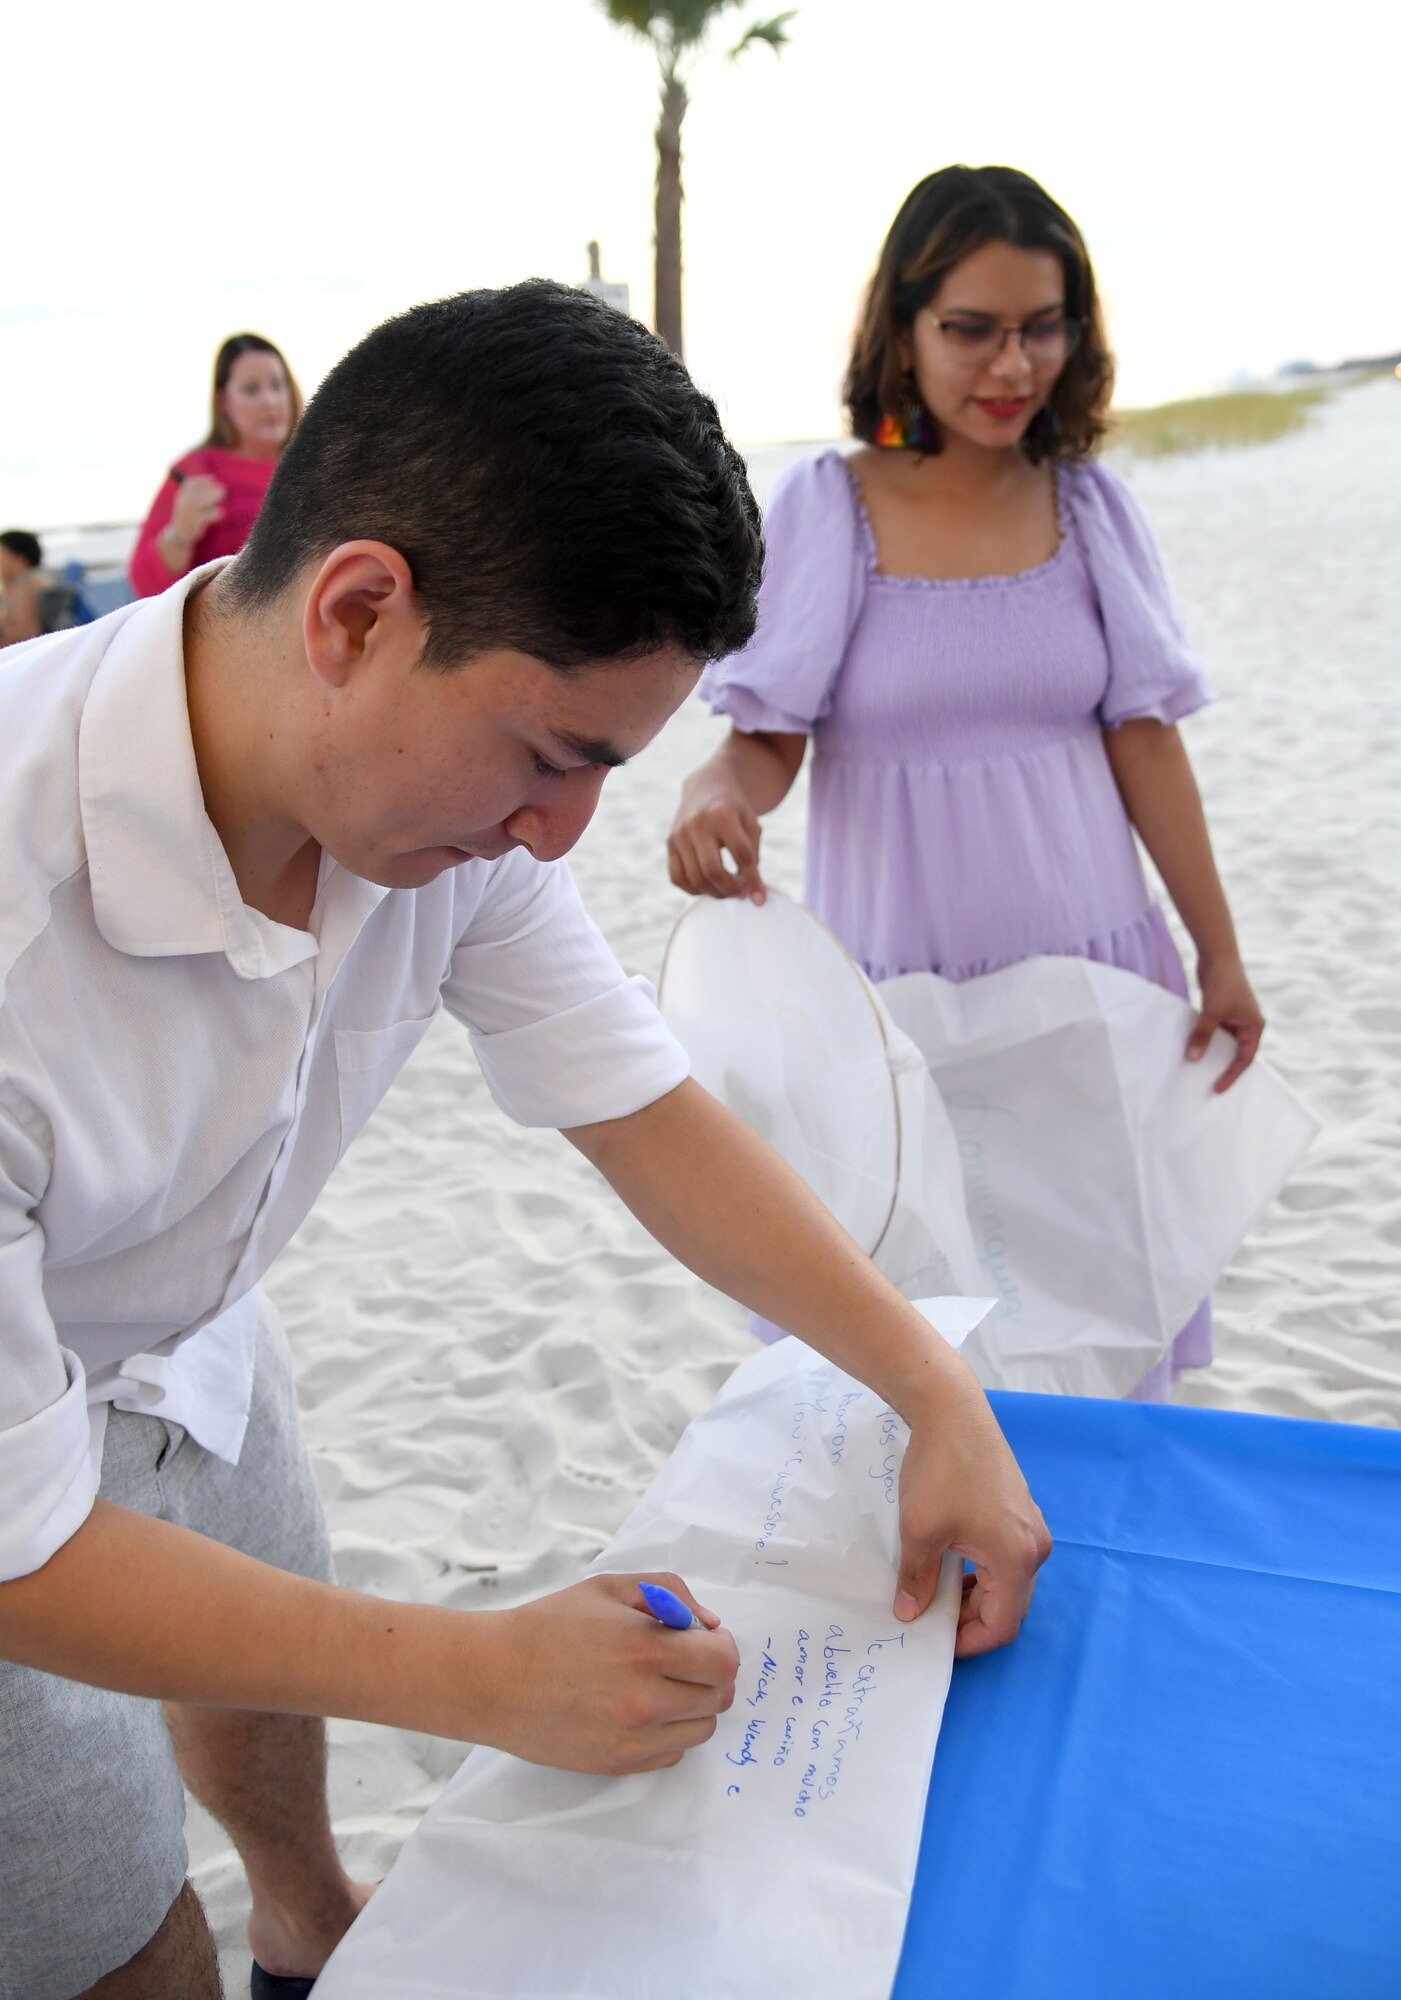
[[[955,1670],[893,2000],[1399,2000],[1401,1432],[993,1404],[1055,1556]]]

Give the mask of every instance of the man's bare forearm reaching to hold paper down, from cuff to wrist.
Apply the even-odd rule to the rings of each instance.
[[[907,1420],[977,1390],[811,1188],[700,1084],[566,1138],[696,1276],[869,1382]]]

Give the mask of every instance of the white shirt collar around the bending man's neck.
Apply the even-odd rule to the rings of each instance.
[[[220,568],[182,576],[114,634],[78,728],[78,802],[92,914],[114,950],[222,952],[240,978],[258,980],[314,958],[318,944],[244,904],[204,810],[184,694],[184,606]],[[358,922],[386,894],[342,868],[322,868],[322,882],[356,904]]]

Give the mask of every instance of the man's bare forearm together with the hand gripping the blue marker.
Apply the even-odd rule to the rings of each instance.
[[[729,1706],[735,1640],[707,1630],[684,1654],[628,1576],[504,1612],[398,1604],[102,1500],[42,1570],[0,1584],[0,1658],[22,1666],[176,1702],[388,1722],[614,1776],[674,1764]]]

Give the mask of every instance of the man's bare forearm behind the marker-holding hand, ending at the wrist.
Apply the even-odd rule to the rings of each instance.
[[[474,1740],[494,1616],[308,1582],[98,1500],[42,1570],[0,1584],[0,1658],[126,1694]]]

